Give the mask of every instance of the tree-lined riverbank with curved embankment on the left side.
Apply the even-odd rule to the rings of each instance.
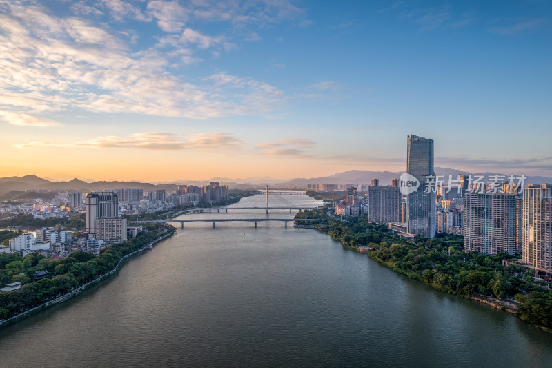
[[[168,225],[168,226],[170,226],[170,225]],[[92,285],[98,284],[99,282],[101,282],[101,281],[105,280],[106,278],[110,277],[113,273],[115,273],[121,267],[122,262],[124,262],[124,260],[127,260],[128,258],[131,258],[133,255],[141,253],[142,251],[145,251],[146,249],[151,249],[152,246],[154,246],[155,244],[157,244],[161,240],[165,240],[166,238],[169,238],[170,236],[172,236],[175,233],[176,229],[172,226],[170,226],[170,227],[168,227],[168,226],[166,228],[164,228],[164,231],[157,232],[157,234],[156,234],[156,236],[158,235],[157,238],[149,239],[149,241],[145,245],[142,244],[138,249],[134,249],[134,250],[130,251],[130,253],[126,253],[124,255],[121,255],[121,257],[119,258],[117,264],[115,264],[114,267],[108,269],[105,272],[101,272],[99,275],[95,275],[95,277],[92,278],[92,280],[86,280],[86,282],[83,282],[83,283],[79,284],[78,286],[72,287],[66,293],[63,293],[61,295],[57,294],[57,295],[52,296],[50,298],[46,298],[46,300],[44,302],[42,302],[41,304],[38,304],[38,305],[35,305],[34,307],[30,307],[28,309],[25,309],[25,310],[21,311],[21,313],[17,313],[14,316],[10,316],[8,318],[0,320],[0,329],[3,328],[3,327],[6,327],[8,325],[12,325],[13,323],[18,322],[19,320],[22,320],[23,318],[27,318],[28,316],[32,316],[34,313],[38,313],[39,311],[42,311],[43,309],[47,309],[49,307],[52,307],[52,305],[59,304],[61,302],[65,302],[66,300],[69,300],[71,298],[75,298],[75,296],[79,295],[83,291],[86,291],[86,289],[90,288]],[[144,234],[140,234],[140,235],[144,235]],[[137,239],[137,238],[133,238],[132,240],[135,240],[135,239]],[[132,242],[132,240],[128,240],[125,243]],[[124,244],[124,243],[115,244],[113,246],[118,246],[118,245],[122,245],[122,244]],[[97,258],[100,258],[102,255],[105,255],[105,253],[107,253],[108,250],[109,249],[106,249],[106,251],[104,251]],[[75,253],[78,253],[78,252],[75,252]],[[91,260],[95,260],[97,258],[92,258]],[[61,262],[63,262],[63,260]],[[56,267],[59,266],[61,264],[61,262],[59,264],[57,264]],[[81,262],[81,263],[83,263],[83,262]],[[76,268],[74,268],[74,269],[76,269]],[[63,275],[66,275],[66,274],[63,273]],[[57,277],[57,276],[55,276],[55,277]],[[48,280],[49,281],[49,279],[43,279],[43,280]],[[39,280],[37,282],[34,282],[33,284],[38,284],[40,282],[43,282],[43,283],[48,282],[48,281],[43,281],[43,280]],[[26,289],[31,287],[33,284],[30,284],[26,287],[23,287],[18,291],[10,291],[8,293],[2,293],[0,295],[0,302],[1,302],[0,305],[9,307],[10,304],[6,303],[6,301],[10,301],[10,299],[12,299],[11,301],[13,302],[13,299],[17,299],[14,296],[16,296],[18,293],[24,293],[26,291]],[[34,295],[34,300],[36,300],[36,298],[39,298],[39,295]],[[8,311],[8,313],[9,313],[9,311]]]

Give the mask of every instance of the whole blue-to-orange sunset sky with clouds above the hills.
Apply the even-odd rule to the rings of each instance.
[[[552,177],[552,2],[0,0],[0,177]]]

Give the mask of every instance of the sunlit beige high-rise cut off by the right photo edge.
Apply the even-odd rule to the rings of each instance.
[[[552,273],[552,185],[523,188],[523,245],[525,264]]]

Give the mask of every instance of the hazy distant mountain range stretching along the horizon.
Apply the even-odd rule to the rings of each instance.
[[[255,186],[264,186],[269,184],[270,186],[297,186],[304,187],[308,184],[369,184],[373,178],[380,180],[380,185],[391,184],[391,179],[399,177],[402,172],[391,171],[368,171],[368,170],[351,170],[343,173],[336,173],[325,177],[311,177],[311,178],[295,178],[292,180],[277,180],[272,177],[257,177],[257,178],[245,178],[245,179],[231,179],[228,177],[214,177],[209,180],[179,180],[169,183],[144,183],[136,181],[97,181],[97,182],[85,182],[79,179],[72,179],[68,181],[51,181],[46,180],[36,175],[25,175],[23,177],[1,177],[0,178],[0,195],[3,200],[17,197],[25,190],[37,190],[37,189],[70,189],[74,191],[80,191],[82,193],[97,191],[110,188],[143,188],[144,191],[153,191],[156,189],[165,189],[166,191],[176,191],[177,185],[189,184],[203,186],[210,181],[220,182],[220,184],[228,184],[230,188],[251,188]],[[435,168],[436,175],[444,175],[445,182],[448,180],[449,175],[453,175],[453,178],[458,174],[470,174],[464,171],[456,170],[453,168]],[[494,175],[495,173],[472,173],[477,175]],[[502,174],[508,177],[511,174]],[[515,174],[520,175],[520,174]],[[528,176],[524,184],[546,184],[552,183],[552,178],[542,176]]]

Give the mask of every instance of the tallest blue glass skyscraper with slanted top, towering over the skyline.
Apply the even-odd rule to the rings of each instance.
[[[433,139],[408,136],[406,170],[419,182],[417,190],[408,195],[408,233],[424,238],[435,236],[435,192],[426,191],[426,179],[433,171]],[[433,180],[435,182],[435,180]]]

